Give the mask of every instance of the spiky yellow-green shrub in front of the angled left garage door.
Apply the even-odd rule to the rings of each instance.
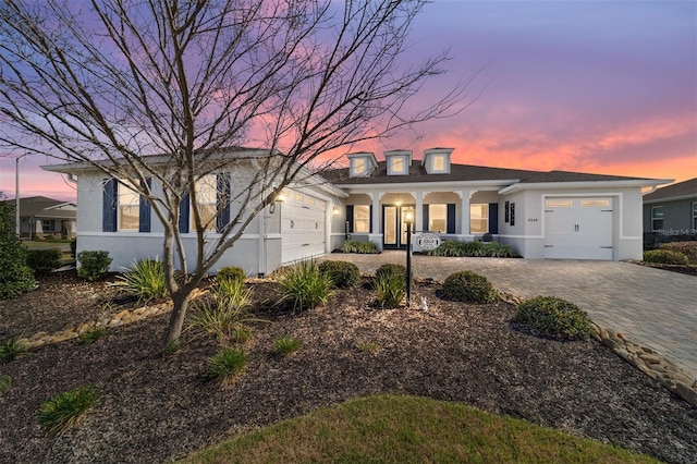
[[[292,306],[296,309],[311,309],[327,303],[331,295],[331,279],[319,271],[314,259],[303,260],[284,268],[278,282],[281,295],[277,304]]]

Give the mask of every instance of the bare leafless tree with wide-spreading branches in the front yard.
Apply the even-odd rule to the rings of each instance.
[[[318,156],[456,111],[465,85],[406,111],[447,61],[400,61],[425,3],[1,0],[0,143],[91,166],[148,199],[164,229],[173,341],[193,289]],[[240,175],[211,211],[196,185],[221,170]],[[206,244],[230,203],[245,207]]]

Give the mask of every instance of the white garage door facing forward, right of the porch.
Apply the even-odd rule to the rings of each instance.
[[[547,198],[545,257],[612,259],[612,198]]]

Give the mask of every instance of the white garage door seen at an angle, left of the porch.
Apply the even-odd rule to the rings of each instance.
[[[289,192],[281,207],[283,264],[325,254],[325,202]]]

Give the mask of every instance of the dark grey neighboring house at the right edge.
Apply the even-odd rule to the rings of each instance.
[[[688,234],[697,230],[697,178],[644,195],[644,232]]]

